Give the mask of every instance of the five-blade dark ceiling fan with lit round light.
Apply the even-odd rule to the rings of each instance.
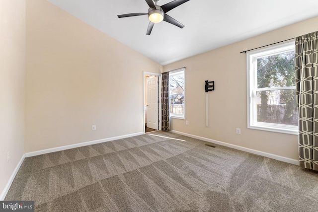
[[[166,12],[181,5],[182,3],[187,2],[188,0],[173,0],[173,1],[166,3],[162,6],[157,5],[157,2],[159,0],[154,0],[154,1],[153,0],[146,0],[146,2],[149,5],[148,13],[139,12],[139,13],[122,14],[122,15],[117,15],[117,16],[119,18],[124,18],[124,17],[138,16],[138,15],[148,15],[150,22],[149,22],[147,33],[146,33],[147,35],[150,35],[155,23],[159,23],[161,21],[171,23],[171,24],[173,24],[177,27],[180,27],[180,28],[184,27],[184,25],[182,23],[173,19],[169,15],[167,15]]]

